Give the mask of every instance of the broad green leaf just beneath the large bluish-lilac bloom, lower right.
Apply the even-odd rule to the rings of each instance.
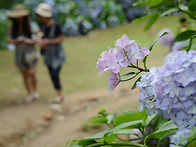
[[[162,125],[158,130],[148,135],[148,138],[154,138],[154,139],[161,139],[164,135],[169,133],[170,131],[177,130],[176,125],[169,121]]]

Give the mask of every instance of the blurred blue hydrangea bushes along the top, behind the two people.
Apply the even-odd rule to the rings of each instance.
[[[15,1],[19,3],[21,0]],[[127,23],[145,14],[144,6],[133,6],[136,0],[24,0],[24,4],[32,12],[32,19],[37,21],[34,10],[41,2],[48,3],[53,8],[54,18],[62,26],[65,35],[87,34],[95,28],[105,29]],[[13,4],[14,4],[13,3]],[[2,11],[3,12],[3,11]],[[131,15],[130,15],[131,14]],[[1,15],[5,15],[3,12]],[[3,26],[4,23],[0,22]],[[4,32],[9,25],[5,26]],[[83,30],[81,30],[83,28]],[[0,44],[5,43],[6,34],[1,35]]]

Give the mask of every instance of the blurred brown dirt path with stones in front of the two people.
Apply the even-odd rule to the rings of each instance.
[[[82,131],[89,117],[100,108],[137,109],[138,90],[118,87],[107,90],[74,93],[61,105],[39,100],[0,111],[0,147],[66,147],[72,139],[87,137],[101,128]]]

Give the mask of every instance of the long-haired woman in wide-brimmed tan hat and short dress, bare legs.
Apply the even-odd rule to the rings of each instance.
[[[15,62],[22,73],[28,96],[26,102],[38,99],[36,65],[39,51],[35,47],[35,37],[29,23],[29,11],[22,4],[14,6],[7,17],[12,25],[9,30],[8,42],[16,46]]]

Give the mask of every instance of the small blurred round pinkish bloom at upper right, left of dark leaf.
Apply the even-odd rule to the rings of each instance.
[[[171,46],[174,41],[174,35],[169,28],[164,28],[163,30],[161,30],[158,33],[158,37],[160,37],[164,32],[168,32],[169,34],[166,34],[166,35],[162,36],[161,38],[159,38],[159,42],[163,46]]]

